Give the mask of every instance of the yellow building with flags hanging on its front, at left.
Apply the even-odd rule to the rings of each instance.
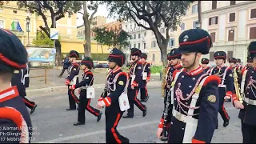
[[[47,24],[51,26],[50,13],[46,13]],[[26,32],[26,18],[30,18],[29,30]],[[18,9],[17,2],[10,1],[0,6],[0,28],[12,31],[20,38],[22,44],[27,46],[31,45],[33,39],[36,38],[39,26],[45,26],[41,16],[30,14],[26,9]],[[61,38],[76,38],[76,14],[65,18],[61,18],[56,22],[56,28]]]

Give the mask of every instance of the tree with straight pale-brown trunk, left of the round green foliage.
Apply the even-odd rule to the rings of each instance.
[[[99,2],[99,1],[90,1],[90,4],[87,5],[87,1],[83,1],[82,2],[83,13],[78,12],[83,15],[82,19],[85,26],[85,38],[86,38],[86,43],[84,44],[85,56],[91,57],[90,25],[93,24],[94,14],[97,13],[98,5],[101,3],[102,2]],[[87,9],[93,10],[94,12],[92,14],[89,14]]]

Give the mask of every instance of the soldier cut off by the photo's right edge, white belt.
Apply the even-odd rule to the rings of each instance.
[[[250,42],[248,47],[250,57],[253,58],[254,69],[242,70],[242,78],[244,82],[241,83],[242,98],[233,95],[234,106],[241,109],[238,118],[242,123],[242,142],[255,143],[256,142],[256,42]],[[239,102],[240,101],[240,102]]]

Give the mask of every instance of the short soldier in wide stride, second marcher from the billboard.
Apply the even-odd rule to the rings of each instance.
[[[80,65],[83,70],[82,81],[70,86],[72,90],[80,88],[78,122],[75,122],[74,126],[84,125],[86,123],[85,110],[88,110],[90,114],[94,114],[97,117],[97,122],[102,118],[102,112],[90,106],[90,98],[86,98],[86,89],[94,84],[94,74],[90,71],[94,66],[94,62],[90,57],[86,57],[83,58]]]

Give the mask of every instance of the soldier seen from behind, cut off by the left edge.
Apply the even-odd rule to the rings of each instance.
[[[0,29],[1,143],[29,143],[32,138],[30,114],[18,94],[18,86],[10,85],[12,74],[26,68],[26,62],[27,52],[22,42],[10,31]],[[15,80],[24,86],[20,78]]]

